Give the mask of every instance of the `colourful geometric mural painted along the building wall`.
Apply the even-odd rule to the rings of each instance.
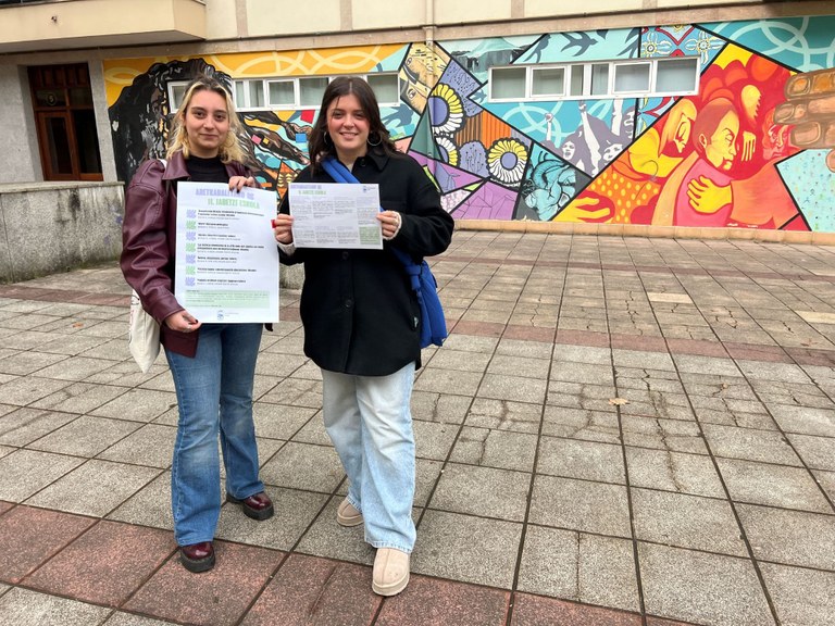
[[[457,220],[835,230],[835,15],[104,63],[120,176],[160,155],[167,84],[397,72],[382,114]],[[501,65],[698,57],[698,93],[490,101]],[[315,109],[244,111],[267,188],[308,164]]]

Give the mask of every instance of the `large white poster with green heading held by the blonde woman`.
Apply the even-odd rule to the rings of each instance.
[[[178,184],[174,296],[201,322],[278,321],[275,200],[264,189]]]

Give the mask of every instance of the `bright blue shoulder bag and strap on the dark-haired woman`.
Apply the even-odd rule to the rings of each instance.
[[[351,171],[333,156],[323,159],[322,167],[337,183],[359,183]],[[429,264],[426,261],[415,263],[409,254],[394,246],[389,250],[406,267],[412,289],[418,297],[418,303],[421,305],[421,348],[429,345],[443,346],[447,338],[447,321],[444,318],[444,309],[438,298],[438,281],[435,280]]]

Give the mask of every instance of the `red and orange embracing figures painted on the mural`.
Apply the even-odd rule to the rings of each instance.
[[[759,57],[705,72],[691,151],[661,189],[652,224],[807,228],[793,224],[798,210],[775,167],[797,152],[773,123],[788,77]]]

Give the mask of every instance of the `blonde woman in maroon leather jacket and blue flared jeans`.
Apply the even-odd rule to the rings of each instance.
[[[122,272],[142,308],[160,323],[179,418],[171,467],[174,538],[189,572],[214,566],[212,540],[221,514],[220,436],[226,500],[253,519],[273,515],[258,476],[252,383],[260,324],[203,324],[174,297],[177,183],[256,186],[242,164],[232,96],[201,76],[186,89],[174,118],[167,164],[142,163],[125,193]]]

